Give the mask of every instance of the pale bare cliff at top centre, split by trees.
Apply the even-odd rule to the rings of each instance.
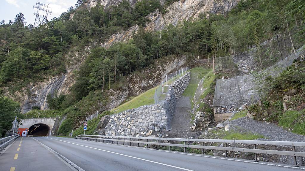
[[[201,12],[209,12],[213,14],[225,14],[232,9],[240,0],[180,0],[174,2],[167,7],[167,13],[164,15],[156,9],[149,14],[147,18],[151,21],[146,23],[145,30],[159,31],[164,29],[168,24],[176,26],[178,22],[190,20],[199,16]],[[121,33],[113,34],[106,42],[102,43],[102,47],[109,47],[114,42],[127,41],[131,38],[132,33],[139,29],[133,26],[129,30]]]

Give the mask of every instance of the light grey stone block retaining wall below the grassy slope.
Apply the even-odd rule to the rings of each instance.
[[[190,73],[169,86],[166,98],[158,104],[144,105],[133,110],[110,116],[105,127],[105,135],[116,136],[149,136],[164,130],[170,130],[170,121],[177,100],[182,96],[190,82]]]

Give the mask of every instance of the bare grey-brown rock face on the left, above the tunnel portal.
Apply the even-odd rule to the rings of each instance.
[[[39,106],[41,110],[48,109],[46,99],[48,94],[53,96],[69,93],[69,88],[75,82],[73,71],[77,70],[90,52],[90,47],[84,48],[82,51],[74,51],[66,54],[66,73],[58,76],[50,76],[43,82],[30,83],[24,87],[22,91],[9,94],[9,96],[21,103],[21,112],[26,113],[33,106]]]

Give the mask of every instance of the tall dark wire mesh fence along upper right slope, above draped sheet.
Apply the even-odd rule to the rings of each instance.
[[[291,33],[294,32],[295,30],[291,30]],[[262,71],[294,54],[294,49],[303,46],[303,42],[293,41],[293,37],[291,35],[290,39],[288,33],[276,34],[273,39],[251,47],[248,51],[214,58],[215,71],[230,73],[232,76]],[[213,58],[198,60],[198,63],[213,64]]]

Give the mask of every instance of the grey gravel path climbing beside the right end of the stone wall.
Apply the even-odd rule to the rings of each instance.
[[[191,110],[191,103],[189,97],[181,96],[178,99],[174,115],[171,120],[171,130],[166,131],[165,134],[168,134],[169,137],[173,138],[190,138],[196,132],[190,131],[190,122],[191,115],[189,114],[189,110]]]

